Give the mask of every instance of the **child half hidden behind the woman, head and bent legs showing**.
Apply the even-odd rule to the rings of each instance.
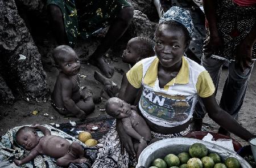
[[[154,55],[154,41],[146,37],[134,37],[128,41],[126,49],[123,51],[122,61],[134,66],[134,64],[141,59],[152,57]],[[125,89],[128,83],[126,73],[123,74],[120,88],[101,75],[100,72],[95,71],[94,78],[104,84],[105,91],[108,93],[109,97],[117,97],[118,93],[121,92],[122,89]],[[121,95],[119,95],[119,97],[121,97]]]

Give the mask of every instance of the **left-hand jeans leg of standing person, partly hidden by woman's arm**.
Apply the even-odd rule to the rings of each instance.
[[[212,78],[213,84],[215,86],[215,94],[218,90],[218,82],[220,80],[221,68],[225,61],[213,58],[202,57],[201,65],[208,71],[210,77]],[[198,98],[198,102],[195,106],[195,113],[193,114],[193,131],[201,131],[203,126],[203,118],[206,114],[205,107],[201,98]]]

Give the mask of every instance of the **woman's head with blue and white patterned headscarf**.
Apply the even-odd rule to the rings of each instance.
[[[192,18],[183,8],[171,7],[160,18],[155,31],[155,53],[163,67],[180,63],[192,39],[193,31]]]

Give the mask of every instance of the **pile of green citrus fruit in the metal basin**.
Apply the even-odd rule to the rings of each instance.
[[[204,144],[195,143],[188,152],[167,154],[163,159],[157,158],[150,168],[239,168],[240,163],[234,157],[228,157],[222,163],[217,153],[209,153]]]

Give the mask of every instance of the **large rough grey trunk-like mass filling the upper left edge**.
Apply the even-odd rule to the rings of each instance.
[[[0,55],[1,74],[10,88],[27,100],[44,100],[48,90],[46,73],[14,0],[0,1]]]

